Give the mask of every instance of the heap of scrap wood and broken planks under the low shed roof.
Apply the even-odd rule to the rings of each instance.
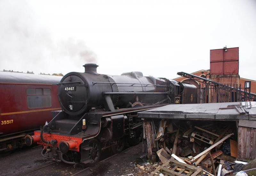
[[[150,156],[154,155],[155,149],[156,155],[163,163],[151,175],[162,173],[162,176],[190,176],[197,173],[190,173],[188,166],[190,169],[201,168],[204,173],[212,176],[224,176],[232,172],[233,168],[226,167],[225,161],[234,163],[237,158],[236,122],[164,119],[151,121],[147,122],[148,130],[145,135],[148,158],[157,159]],[[227,142],[230,143],[228,150],[231,154],[223,152],[226,147],[223,143]]]

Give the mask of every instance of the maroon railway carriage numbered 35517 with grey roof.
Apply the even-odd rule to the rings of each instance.
[[[60,110],[61,76],[0,72],[0,151],[23,146],[24,137]]]

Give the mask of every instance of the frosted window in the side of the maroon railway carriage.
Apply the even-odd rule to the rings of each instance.
[[[52,106],[51,89],[49,88],[28,88],[28,108],[45,108]]]

